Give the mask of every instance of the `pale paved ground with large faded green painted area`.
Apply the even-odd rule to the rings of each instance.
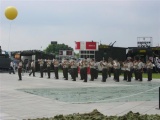
[[[129,111],[160,114],[155,109],[159,106],[160,80],[127,83],[120,78],[116,83],[111,77],[102,83],[99,76],[94,82],[84,83],[79,78],[74,82],[63,80],[62,74],[59,76],[55,80],[53,73],[51,79],[39,78],[39,73],[36,77],[25,73],[23,80],[18,81],[17,73],[0,73],[0,120],[53,117],[93,109],[105,115],[123,115]]]

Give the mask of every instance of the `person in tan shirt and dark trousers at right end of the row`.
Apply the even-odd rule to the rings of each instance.
[[[148,81],[151,81],[152,80],[152,69],[153,69],[153,64],[151,60],[147,61],[146,68],[147,68]]]

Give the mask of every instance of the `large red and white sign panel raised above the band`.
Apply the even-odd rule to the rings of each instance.
[[[97,42],[75,42],[76,50],[98,50],[98,43]]]

